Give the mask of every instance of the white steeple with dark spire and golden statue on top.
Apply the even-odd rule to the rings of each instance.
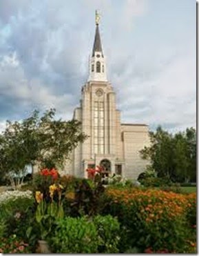
[[[101,37],[99,33],[100,16],[96,11],[96,31],[94,37],[94,45],[92,49],[92,57],[90,57],[90,75],[88,81],[107,81],[105,57],[101,46]]]

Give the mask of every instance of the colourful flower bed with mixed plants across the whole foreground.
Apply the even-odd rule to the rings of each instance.
[[[19,247],[9,240],[8,250],[19,253],[35,253],[41,238],[53,253],[196,253],[196,193],[132,184],[104,188],[98,169],[88,174],[90,179],[61,179],[56,170],[45,169],[36,175],[33,193],[0,194],[7,210],[0,221],[3,253],[12,235]],[[82,227],[91,237],[97,234],[94,244],[84,243]]]

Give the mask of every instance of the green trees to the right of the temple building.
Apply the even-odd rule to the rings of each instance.
[[[172,181],[196,181],[196,130],[187,128],[175,135],[158,127],[149,132],[151,146],[140,150],[143,159],[151,161],[158,177]]]

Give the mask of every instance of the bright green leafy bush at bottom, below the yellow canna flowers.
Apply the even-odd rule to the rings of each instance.
[[[85,217],[66,217],[57,222],[49,244],[52,253],[97,253],[98,234]]]

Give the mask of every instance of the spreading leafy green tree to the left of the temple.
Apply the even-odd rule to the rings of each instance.
[[[81,132],[79,121],[56,120],[55,114],[51,109],[39,117],[35,110],[21,122],[7,121],[0,136],[0,176],[6,174],[13,183],[14,177],[23,179],[28,164],[63,167],[72,149],[87,136]]]

